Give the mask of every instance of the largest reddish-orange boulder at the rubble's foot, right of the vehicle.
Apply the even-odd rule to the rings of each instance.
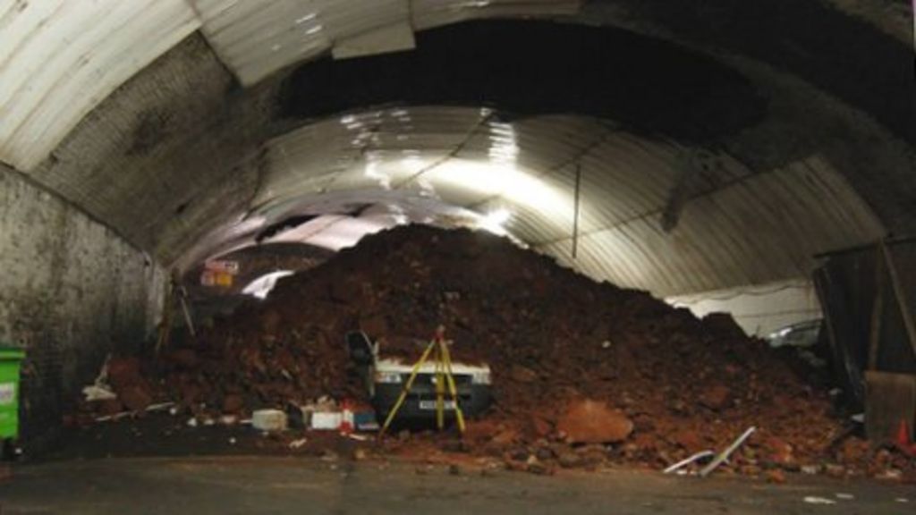
[[[604,402],[573,402],[557,422],[557,429],[573,444],[622,442],[633,432],[633,422]]]

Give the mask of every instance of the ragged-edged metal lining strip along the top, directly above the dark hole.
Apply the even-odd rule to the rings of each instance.
[[[468,19],[574,14],[579,0],[189,0],[220,59],[245,84],[290,64],[412,49],[413,30]]]

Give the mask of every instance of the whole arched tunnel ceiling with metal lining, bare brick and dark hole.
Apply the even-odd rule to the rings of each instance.
[[[262,214],[269,220],[316,205],[330,211],[347,199],[402,203],[420,218],[461,206],[485,212],[504,203],[513,211],[508,228],[530,245],[595,277],[659,294],[798,277],[810,268],[815,252],[874,239],[886,228],[911,232],[916,226],[911,208],[916,137],[909,125],[916,104],[900,85],[911,81],[910,53],[893,36],[895,22],[873,10],[864,21],[819,0],[780,0],[747,11],[722,0],[671,9],[656,1],[605,0],[564,17],[574,28],[526,22],[513,33],[518,27],[491,25],[496,29],[482,37],[485,28],[456,26],[410,34],[408,41],[404,23],[420,29],[473,17],[561,16],[578,3],[414,0],[405,18],[406,2],[372,3],[379,9],[388,5],[391,10],[384,13],[354,9],[364,5],[356,1],[278,2],[315,8],[301,15],[278,7],[245,16],[227,10],[230,3],[215,1],[128,3],[131,7],[120,11],[101,2],[93,5],[119,14],[52,16],[44,24],[31,7],[23,7],[26,3],[6,4],[0,5],[0,40],[16,50],[0,63],[0,84],[16,87],[0,88],[0,113],[16,123],[0,129],[0,159],[165,264],[190,266],[191,257],[206,249],[238,244]],[[72,9],[62,2],[49,5],[58,9],[54,16]],[[423,13],[426,17],[418,17]],[[796,13],[803,16],[792,19]],[[21,23],[27,14],[32,25]],[[96,20],[92,30],[86,29],[89,18]],[[145,30],[158,32],[142,32],[132,25],[137,18],[146,20],[140,24]],[[315,30],[319,18],[322,28]],[[790,23],[780,26],[783,19]],[[837,52],[833,44],[825,47],[823,38],[808,37],[817,23],[834,37],[842,35],[850,51]],[[290,45],[289,27],[298,26],[308,26],[299,29],[304,39]],[[156,59],[195,29],[200,32]],[[567,41],[545,39],[539,30],[570,31],[581,38],[600,32],[619,44],[570,55]],[[501,38],[503,33],[512,36]],[[414,64],[432,52],[431,62],[446,76],[442,69],[456,63],[433,51],[442,34],[458,38],[453,49],[499,54],[486,50],[514,48],[518,59],[506,54],[508,73],[490,84],[474,76],[480,71],[471,71],[470,87],[463,91],[479,98],[437,96],[447,88],[422,82]],[[566,81],[563,89],[556,62],[525,58],[524,50],[542,50],[551,42],[556,49],[567,45],[553,52],[554,59],[591,58],[608,68],[584,89],[582,77]],[[343,57],[398,45],[417,48],[383,58],[322,59],[292,74],[282,70],[328,51]],[[658,53],[646,60],[632,52],[634,45]],[[56,55],[49,61],[53,66],[41,69],[41,57],[51,54]],[[378,66],[411,60],[414,64],[399,70],[409,73],[403,81],[396,74],[385,76],[396,69]],[[637,80],[654,71],[647,62],[669,71],[681,66],[669,76],[681,80],[665,84],[663,71],[661,82]],[[539,66],[542,80],[532,73]],[[322,80],[341,73],[347,81],[329,82],[331,87],[322,90]],[[41,80],[29,81],[32,77]],[[374,81],[387,82],[388,89],[354,87]],[[571,85],[580,90],[569,94]],[[679,85],[684,91],[671,89]],[[328,94],[301,97],[308,88]],[[292,103],[290,91],[300,95]],[[525,91],[533,93],[511,102],[512,95]],[[359,92],[373,94],[360,97]],[[653,92],[667,102],[645,102]],[[582,94],[600,100],[602,93],[616,103],[570,107]],[[572,113],[540,115],[524,108],[538,104],[553,113]],[[633,111],[627,113],[628,108]],[[338,110],[346,113],[332,115]],[[408,131],[395,115],[363,137],[371,141],[385,134],[384,141],[364,141],[364,148],[354,152],[358,134],[341,123],[344,116],[371,126],[379,113],[390,118],[400,112],[424,120],[424,128]],[[518,150],[491,154],[507,131],[518,138]],[[405,135],[413,137],[415,148],[398,141]],[[392,158],[405,150],[412,152],[413,164],[447,159],[421,174],[429,175],[424,186],[419,178],[403,177],[413,165]],[[295,159],[284,164],[278,159],[283,153]],[[512,169],[499,162],[507,153],[516,161],[516,171],[508,176]],[[366,170],[369,156],[378,157],[376,166],[388,181],[404,184],[386,190],[381,172]],[[449,171],[456,164],[472,170],[465,175],[477,173],[477,182],[494,181],[496,191],[477,191],[467,177],[452,180],[462,176]],[[584,181],[583,236],[573,261],[569,203],[577,165]],[[532,184],[556,192],[558,202],[532,206],[530,197],[513,198],[506,179],[490,179],[494,167],[502,170],[497,177],[536,178]],[[328,198],[338,197],[318,202],[316,188]],[[677,220],[670,232],[661,228],[662,214]],[[249,225],[239,225],[243,219]]]

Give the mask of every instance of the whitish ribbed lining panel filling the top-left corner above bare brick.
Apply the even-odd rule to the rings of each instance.
[[[0,159],[32,170],[95,105],[197,27],[183,0],[6,3]]]

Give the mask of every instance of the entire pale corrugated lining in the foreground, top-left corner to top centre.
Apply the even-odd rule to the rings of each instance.
[[[245,85],[300,60],[413,48],[413,30],[573,14],[578,0],[0,1],[0,160],[31,171],[123,82],[202,28]]]

